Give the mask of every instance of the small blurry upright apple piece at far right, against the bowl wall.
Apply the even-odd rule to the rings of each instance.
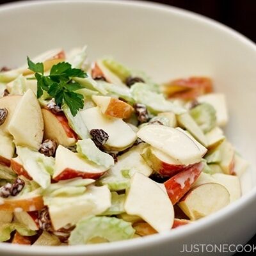
[[[221,161],[220,166],[224,173],[233,174],[234,173],[234,157],[235,150],[234,147],[227,140],[221,143],[220,147]]]

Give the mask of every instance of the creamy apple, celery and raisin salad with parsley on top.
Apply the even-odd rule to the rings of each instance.
[[[234,202],[247,163],[207,77],[157,84],[86,47],[0,72],[0,241],[171,232]]]

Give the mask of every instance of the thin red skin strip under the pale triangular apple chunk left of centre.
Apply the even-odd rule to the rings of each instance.
[[[81,172],[81,171],[76,171],[72,170],[70,168],[66,168],[61,172],[58,176],[54,177],[54,180],[59,181],[59,180],[68,180],[68,179],[73,179],[77,177],[81,177],[83,179],[99,179],[105,172],[100,172],[100,173],[88,173],[88,172]]]

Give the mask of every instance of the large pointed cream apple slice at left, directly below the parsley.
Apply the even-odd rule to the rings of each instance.
[[[20,100],[8,129],[16,145],[40,148],[44,135],[44,120],[36,95],[28,90]]]

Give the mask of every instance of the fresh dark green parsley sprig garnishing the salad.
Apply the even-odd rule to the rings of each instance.
[[[44,64],[33,63],[28,57],[28,68],[35,72],[37,80],[37,97],[40,98],[44,91],[54,98],[61,107],[67,104],[73,116],[84,106],[84,97],[76,90],[83,88],[81,84],[72,80],[72,77],[86,77],[87,74],[79,69],[72,68],[70,63],[60,62],[53,65],[49,76],[44,76]]]

